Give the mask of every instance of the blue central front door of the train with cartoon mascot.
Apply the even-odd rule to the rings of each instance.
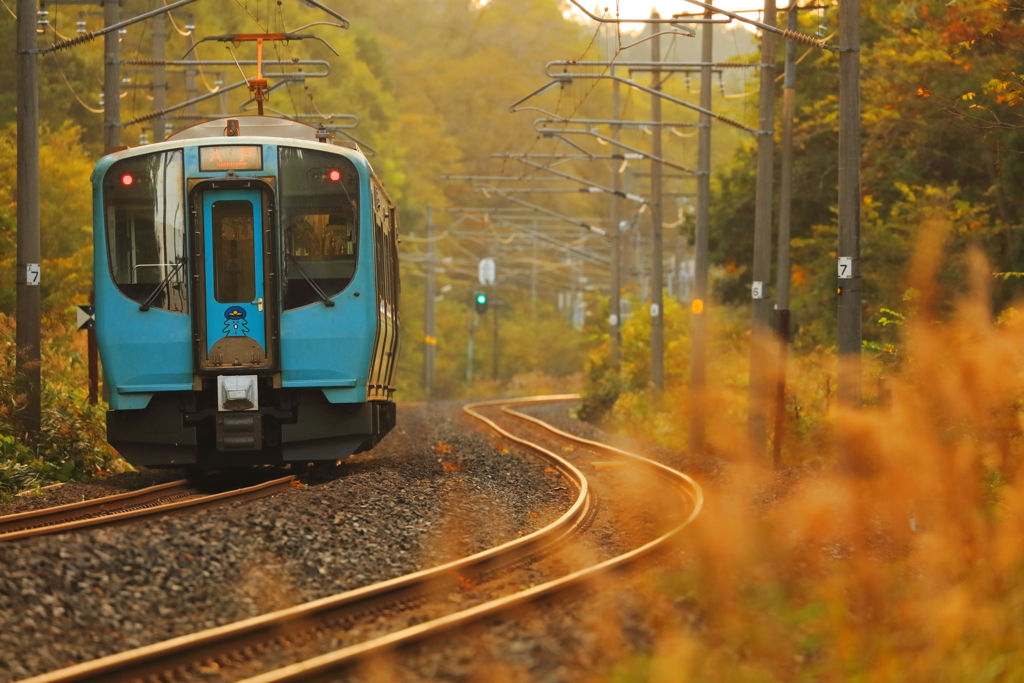
[[[272,297],[264,275],[263,193],[210,189],[201,197],[200,366],[206,370],[269,367],[266,312]]]

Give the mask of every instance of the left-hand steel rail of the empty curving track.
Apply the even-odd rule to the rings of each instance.
[[[566,398],[567,396],[555,396],[549,400]],[[463,410],[469,413],[473,408],[501,402],[508,401],[482,401],[466,405]],[[22,683],[127,683],[187,669],[224,653],[245,652],[249,648],[258,648],[283,638],[294,638],[309,630],[330,628],[330,625],[346,618],[374,613],[389,606],[415,604],[425,595],[451,590],[466,579],[486,575],[550,552],[590,523],[596,509],[590,484],[583,472],[561,456],[511,434],[487,418],[474,417],[478,417],[503,436],[541,454],[551,467],[577,488],[577,500],[565,513],[551,524],[527,536],[430,569],[119,652],[26,679]]]

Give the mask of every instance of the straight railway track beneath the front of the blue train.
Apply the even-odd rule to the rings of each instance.
[[[287,476],[220,494],[203,494],[188,480],[180,479],[127,494],[6,515],[0,517],[0,543],[262,498],[288,487],[294,480],[294,476]]]

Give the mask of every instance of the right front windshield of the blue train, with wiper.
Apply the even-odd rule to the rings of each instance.
[[[340,155],[280,148],[283,304],[298,308],[340,293],[355,274],[359,174]]]

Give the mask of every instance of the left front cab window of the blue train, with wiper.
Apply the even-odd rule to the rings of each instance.
[[[152,308],[187,313],[181,151],[111,166],[103,210],[111,276],[121,293]]]

